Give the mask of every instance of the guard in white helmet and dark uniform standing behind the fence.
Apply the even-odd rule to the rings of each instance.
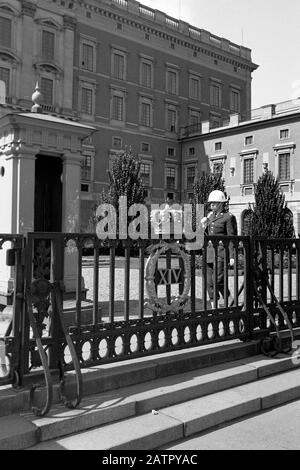
[[[237,222],[236,218],[230,212],[225,211],[227,199],[222,191],[212,191],[208,197],[211,212],[207,217],[201,219],[202,227],[205,229],[207,235],[237,235]],[[224,298],[224,262],[225,262],[225,248],[218,246],[217,248],[217,299],[220,294]],[[229,264],[234,265],[233,246],[229,244]],[[214,269],[215,269],[215,250],[212,242],[208,243],[206,254],[207,265],[207,291],[212,308],[214,305]],[[227,292],[228,305],[231,304],[232,298],[230,291]]]

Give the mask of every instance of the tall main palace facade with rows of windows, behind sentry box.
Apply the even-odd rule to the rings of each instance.
[[[82,228],[126,146],[142,159],[148,201],[186,200],[196,169],[209,168],[186,139],[202,122],[210,141],[231,114],[250,120],[256,68],[247,47],[135,0],[0,0],[0,117],[29,111],[38,83],[52,122],[93,129],[82,146]]]

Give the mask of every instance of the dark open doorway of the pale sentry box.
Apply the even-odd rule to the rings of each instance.
[[[61,232],[62,160],[38,155],[35,162],[34,231]]]

